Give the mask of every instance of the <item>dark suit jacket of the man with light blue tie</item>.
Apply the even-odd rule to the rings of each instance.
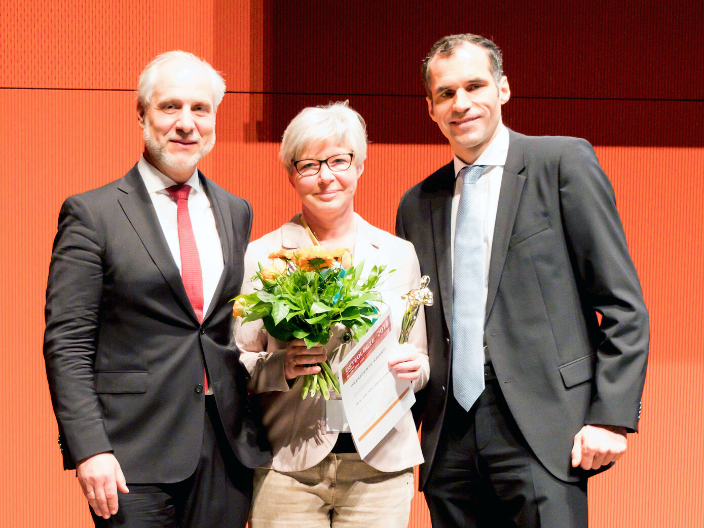
[[[454,186],[449,163],[406,192],[396,218],[396,234],[413,242],[436,293],[425,308],[430,381],[421,486],[450,381]],[[574,434],[584,424],[637,429],[648,313],[612,187],[586,141],[510,132],[484,334],[510,411],[555,477],[584,477],[570,467]]]

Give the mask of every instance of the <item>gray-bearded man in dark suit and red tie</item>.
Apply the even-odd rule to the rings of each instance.
[[[251,468],[270,458],[228,303],[251,207],[196,168],[224,94],[205,61],[158,56],[139,79],[144,155],[61,208],[44,357],[96,526],[244,527]]]

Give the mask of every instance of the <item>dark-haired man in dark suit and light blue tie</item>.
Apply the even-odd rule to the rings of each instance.
[[[454,158],[406,192],[396,234],[436,290],[420,470],[433,526],[586,527],[586,478],[636,431],[648,356],[612,187],[584,140],[503,126],[493,42],[445,37],[423,66]]]

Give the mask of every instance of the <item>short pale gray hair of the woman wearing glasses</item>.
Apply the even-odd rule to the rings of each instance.
[[[303,108],[286,127],[279,150],[279,159],[291,174],[294,160],[309,146],[322,142],[346,144],[354,153],[359,167],[367,159],[367,125],[349,106],[349,101]]]

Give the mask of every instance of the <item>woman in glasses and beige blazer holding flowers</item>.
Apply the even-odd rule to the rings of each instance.
[[[301,198],[298,213],[278,230],[253,241],[245,256],[243,293],[260,287],[246,282],[258,263],[281,249],[321,245],[346,248],[353,263],[395,270],[379,284],[391,308],[396,332],[406,308],[401,299],[420,284],[413,246],[373,227],[354,212],[354,196],[364,172],[367,137],[363,118],[345,103],[304,108],[282,139],[279,158]],[[382,181],[382,180],[379,180]],[[349,265],[349,263],[346,263]],[[429,366],[425,317],[420,311],[408,343],[389,363],[415,391],[427,383]],[[251,528],[370,527],[406,528],[413,498],[413,465],[423,458],[410,413],[364,459],[351,434],[341,427],[340,401],[320,394],[301,398],[303,375],[327,358],[336,369],[351,350],[351,333],[339,325],[324,346],[306,348],[302,339],[277,341],[260,321],[237,329],[237,346],[258,394],[273,460],[255,471]]]

